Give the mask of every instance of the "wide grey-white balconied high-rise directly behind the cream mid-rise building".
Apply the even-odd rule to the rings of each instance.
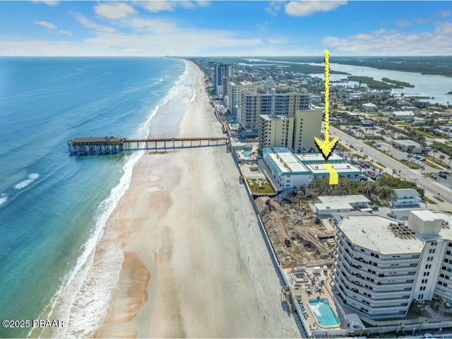
[[[295,112],[309,109],[310,101],[310,93],[296,91],[288,86],[276,87],[274,90],[242,90],[237,119],[244,129],[258,129],[260,114],[295,117]]]

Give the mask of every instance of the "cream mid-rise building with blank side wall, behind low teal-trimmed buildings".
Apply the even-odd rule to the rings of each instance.
[[[314,152],[314,136],[320,136],[322,118],[321,111],[312,110],[297,110],[293,116],[259,114],[259,149],[287,147],[295,153]]]

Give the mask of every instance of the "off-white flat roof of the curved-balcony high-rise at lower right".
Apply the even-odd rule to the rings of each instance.
[[[423,242],[417,237],[396,237],[388,226],[398,220],[383,215],[347,215],[338,228],[350,242],[380,254],[419,254]]]

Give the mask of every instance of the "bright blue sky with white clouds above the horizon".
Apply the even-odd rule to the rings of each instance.
[[[452,55],[452,1],[0,1],[1,56]]]

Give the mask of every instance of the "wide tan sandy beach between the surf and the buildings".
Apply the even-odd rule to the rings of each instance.
[[[191,87],[172,100],[196,99],[179,136],[222,136],[203,73],[186,62]],[[124,261],[95,338],[299,337],[224,145],[143,155],[108,227]]]

